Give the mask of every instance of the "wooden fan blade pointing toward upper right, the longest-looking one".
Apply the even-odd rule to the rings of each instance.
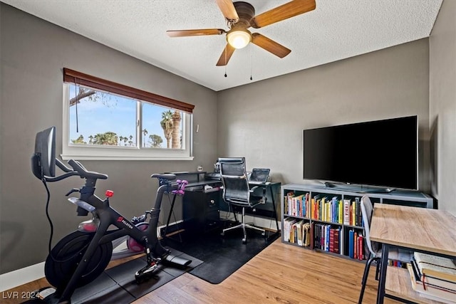
[[[275,9],[264,12],[255,16],[250,25],[254,28],[261,28],[269,26],[269,24],[276,23],[294,16],[304,14],[308,11],[315,9],[315,0],[294,0]]]

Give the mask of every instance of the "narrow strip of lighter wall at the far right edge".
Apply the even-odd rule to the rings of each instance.
[[[432,193],[456,215],[456,1],[443,1],[430,35]]]

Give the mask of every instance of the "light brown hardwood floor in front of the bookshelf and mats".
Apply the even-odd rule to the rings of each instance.
[[[364,263],[318,253],[276,240],[220,284],[189,273],[135,300],[143,303],[358,303]],[[375,268],[370,271],[363,303],[375,303]],[[46,286],[41,279],[13,290]],[[21,303],[2,299],[1,303]],[[398,303],[385,298],[385,304]]]

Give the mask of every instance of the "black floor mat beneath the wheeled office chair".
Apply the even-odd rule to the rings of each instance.
[[[189,273],[218,284],[280,236],[266,232],[265,237],[250,229],[247,232],[246,244],[242,243],[242,229],[227,231],[224,236],[220,236],[220,231],[212,231],[199,237],[186,237],[183,243],[169,241],[167,244],[204,262]]]

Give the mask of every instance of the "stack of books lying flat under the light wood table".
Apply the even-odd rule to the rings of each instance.
[[[456,260],[415,252],[407,268],[413,289],[423,298],[456,303]]]

